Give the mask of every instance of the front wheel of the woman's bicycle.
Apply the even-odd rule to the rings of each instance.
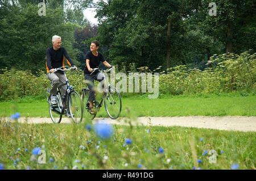
[[[105,92],[105,110],[111,119],[117,119],[122,110],[121,96],[115,87],[109,87],[109,92]]]

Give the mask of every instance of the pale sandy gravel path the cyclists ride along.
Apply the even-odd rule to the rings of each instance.
[[[19,122],[23,123],[26,119],[19,118]],[[96,118],[93,120],[128,125],[125,118],[118,120],[111,120],[108,118]],[[51,118],[46,117],[32,117],[28,118],[27,123],[52,123]],[[71,119],[63,117],[61,124],[71,123]],[[138,117],[137,121],[132,124],[136,125],[152,125],[163,127],[195,127],[207,129],[219,129],[226,131],[242,131],[242,132],[256,132],[256,116],[222,116],[222,117],[209,117],[209,116],[184,116],[184,117]]]

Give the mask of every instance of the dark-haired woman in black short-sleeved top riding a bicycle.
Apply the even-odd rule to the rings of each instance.
[[[85,68],[84,68],[84,79],[85,83],[89,88],[89,103],[90,103],[90,113],[94,114],[93,110],[93,100],[94,98],[94,79],[96,81],[101,82],[102,78],[104,78],[104,75],[100,75],[100,71],[96,70],[93,72],[94,68],[97,68],[98,65],[100,65],[100,62],[102,62],[107,68],[114,68],[111,66],[104,58],[103,54],[98,52],[98,48],[100,48],[100,42],[97,40],[92,41],[90,44],[90,51],[86,53],[85,55]],[[92,73],[93,72],[93,73]],[[100,79],[99,79],[100,78]]]

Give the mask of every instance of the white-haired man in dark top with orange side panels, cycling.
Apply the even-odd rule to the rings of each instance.
[[[71,58],[68,56],[65,48],[61,47],[60,36],[52,36],[52,45],[53,47],[50,47],[46,50],[46,76],[52,82],[52,89],[50,90],[51,103],[56,104],[57,87],[61,85],[60,91],[61,95],[63,95],[67,90],[67,85],[64,85],[66,81],[63,71],[55,71],[55,68],[64,66],[64,58],[67,60],[69,66],[74,66],[75,68],[76,66],[73,64]],[[53,71],[55,72],[53,73]],[[65,108],[67,108],[67,102],[65,103]]]

